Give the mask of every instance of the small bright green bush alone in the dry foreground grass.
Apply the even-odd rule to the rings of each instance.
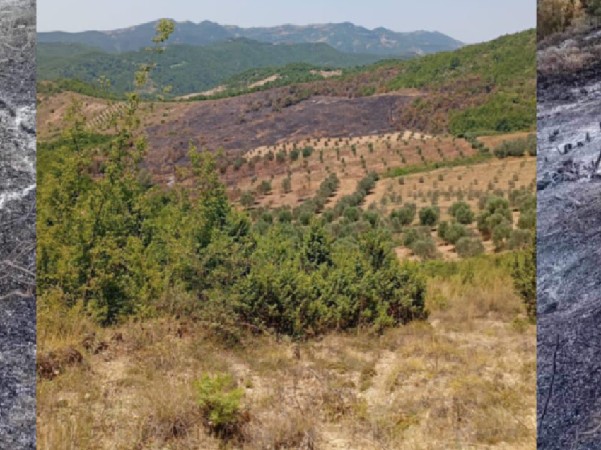
[[[195,383],[197,402],[205,419],[218,432],[235,427],[240,420],[240,400],[244,391],[235,388],[231,374],[203,374]]]

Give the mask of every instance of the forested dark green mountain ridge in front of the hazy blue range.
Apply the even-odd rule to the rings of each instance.
[[[132,74],[148,62],[148,52],[106,52],[98,47],[76,43],[37,45],[37,79],[78,79],[95,83],[106,76],[115,92],[132,88]],[[383,57],[374,54],[346,54],[325,43],[274,45],[233,38],[202,47],[171,45],[158,55],[153,70],[155,86],[172,86],[180,96],[206,91],[247,69],[284,66],[293,62],[319,67],[355,67],[371,64]]]

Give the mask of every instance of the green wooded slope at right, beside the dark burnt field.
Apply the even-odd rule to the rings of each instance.
[[[455,52],[426,55],[401,65],[400,74],[388,83],[390,89],[452,90],[455,96],[472,100],[486,93],[477,100],[477,106],[466,102],[459,110],[455,105],[449,108],[448,129],[453,134],[513,132],[536,127],[535,30],[468,45]],[[444,100],[442,96],[433,103]],[[421,110],[422,114],[428,114],[426,108],[428,100],[415,101],[418,113]]]

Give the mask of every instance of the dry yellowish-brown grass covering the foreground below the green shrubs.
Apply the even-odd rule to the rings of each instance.
[[[200,324],[101,329],[40,308],[40,353],[75,346],[85,364],[38,379],[38,446],[534,449],[535,326],[502,265],[462,264],[429,278],[428,322],[380,337],[247,335],[225,347]],[[107,345],[84,345],[93,332]],[[193,388],[202,373],[224,371],[245,391],[243,424],[227,442],[211,435]]]

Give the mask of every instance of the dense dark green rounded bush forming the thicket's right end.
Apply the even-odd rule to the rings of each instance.
[[[233,292],[239,320],[287,335],[377,329],[426,316],[426,285],[417,267],[400,264],[390,235],[373,229],[354,246],[332,243],[319,221],[301,243],[278,225],[257,241],[250,271]],[[301,248],[299,255],[299,248]]]

